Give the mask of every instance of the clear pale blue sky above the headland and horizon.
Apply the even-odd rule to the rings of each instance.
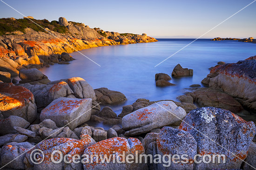
[[[82,22],[155,38],[197,38],[253,0],[3,0],[35,19]],[[23,18],[0,2],[0,18]],[[256,38],[256,2],[202,38]]]

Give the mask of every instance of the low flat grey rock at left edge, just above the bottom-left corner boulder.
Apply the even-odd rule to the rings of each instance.
[[[17,134],[7,134],[4,136],[0,136],[0,146],[5,145],[7,143],[10,142],[24,142],[25,140],[27,140],[27,136],[25,135],[20,135],[19,133]]]

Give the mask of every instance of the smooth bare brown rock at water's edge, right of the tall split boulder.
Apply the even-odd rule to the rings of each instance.
[[[124,94],[121,92],[109,90],[108,88],[94,89],[96,100],[102,104],[118,104],[127,101]]]

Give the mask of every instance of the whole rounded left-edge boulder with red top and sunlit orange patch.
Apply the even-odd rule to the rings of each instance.
[[[32,123],[37,115],[34,95],[27,88],[0,83],[0,112],[4,118],[14,115]]]

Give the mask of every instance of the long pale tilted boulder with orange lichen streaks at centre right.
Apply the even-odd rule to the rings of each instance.
[[[172,101],[160,101],[136,110],[122,118],[126,136],[146,133],[155,128],[168,126],[182,120],[186,111]]]

